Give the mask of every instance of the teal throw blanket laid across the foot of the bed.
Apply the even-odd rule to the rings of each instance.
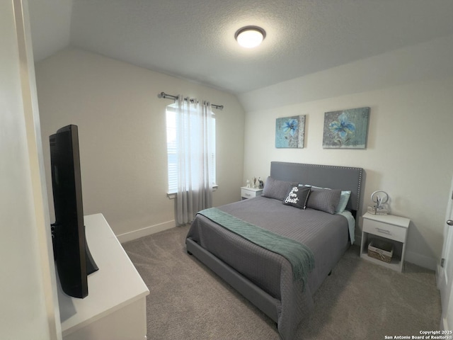
[[[284,256],[291,263],[294,280],[302,280],[305,285],[314,268],[314,254],[308,246],[252,225],[217,208],[201,210],[198,213],[248,241]]]

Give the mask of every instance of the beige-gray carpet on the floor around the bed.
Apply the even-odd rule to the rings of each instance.
[[[185,252],[188,227],[123,244],[150,294],[151,340],[280,339],[272,320]],[[440,324],[435,273],[406,263],[397,273],[361,260],[352,246],[315,293],[298,339],[384,339]]]

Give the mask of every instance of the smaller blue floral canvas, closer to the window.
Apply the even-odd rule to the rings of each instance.
[[[275,147],[304,147],[305,115],[277,118]]]

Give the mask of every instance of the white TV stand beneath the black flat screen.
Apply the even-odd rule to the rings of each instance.
[[[84,299],[64,294],[58,283],[63,339],[147,339],[147,285],[103,215],[85,216],[84,222],[99,270],[88,276]]]

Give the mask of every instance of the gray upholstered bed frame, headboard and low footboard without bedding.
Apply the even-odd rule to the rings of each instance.
[[[287,162],[271,162],[270,176],[281,181],[294,181],[322,188],[350,190],[351,196],[347,209],[354,217],[360,211],[360,194],[362,188],[363,169],[345,166],[328,166],[315,164],[299,164]],[[357,219],[356,219],[357,220]],[[192,239],[186,239],[188,254],[210,268],[226,283],[246,297],[253,305],[277,323],[277,300],[251,283],[250,280],[235,271],[223,261],[217,259],[209,251],[202,248]]]

